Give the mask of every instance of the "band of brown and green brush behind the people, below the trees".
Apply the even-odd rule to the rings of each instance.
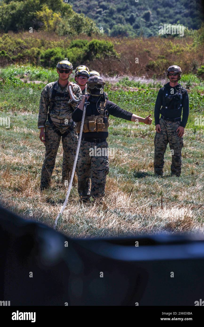
[[[0,66],[32,63],[56,67],[68,58],[74,65],[86,64],[103,75],[164,77],[168,66],[204,76],[204,26],[182,38],[111,38],[59,36],[55,32],[9,32],[0,36]]]

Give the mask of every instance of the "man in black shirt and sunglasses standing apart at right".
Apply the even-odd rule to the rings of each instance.
[[[179,177],[183,134],[189,115],[189,98],[187,90],[178,84],[181,78],[179,66],[170,66],[167,70],[167,77],[170,82],[159,90],[154,110],[156,125],[154,172],[156,175],[163,174],[164,153],[169,143],[172,154],[171,176]]]

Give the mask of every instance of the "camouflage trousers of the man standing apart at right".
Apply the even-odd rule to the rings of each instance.
[[[154,138],[154,172],[158,175],[163,174],[164,153],[169,143],[172,153],[171,175],[180,176],[183,137],[179,137],[179,131],[176,131],[180,126],[180,122],[168,122],[160,119],[160,126],[161,132],[156,132]]]

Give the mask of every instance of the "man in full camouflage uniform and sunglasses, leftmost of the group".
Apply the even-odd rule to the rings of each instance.
[[[60,68],[63,68],[64,71]],[[68,104],[68,101],[70,100],[68,86],[71,83],[69,82],[68,84],[65,84],[65,81],[72,72],[71,68],[73,67],[69,61],[60,61],[57,65],[59,80],[47,84],[41,93],[38,128],[41,129],[40,139],[45,145],[45,159],[41,173],[41,190],[50,185],[60,140],[62,140],[63,147],[62,181],[69,181],[75,159],[78,137],[71,116],[75,110],[76,102],[72,101]],[[60,73],[60,71],[62,71],[62,73]],[[59,82],[65,85],[62,86]],[[52,98],[53,92],[55,92],[54,101]],[[76,84],[73,84],[73,93],[78,98],[81,98],[82,96],[80,87]],[[60,133],[56,132],[51,124],[54,124],[54,127],[57,128]],[[63,134],[65,136],[63,136]],[[45,138],[45,140],[42,138]]]

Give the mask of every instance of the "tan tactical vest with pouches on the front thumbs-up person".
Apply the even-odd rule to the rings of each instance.
[[[100,103],[100,116],[91,115],[84,119],[83,132],[108,132],[108,116],[104,115],[104,108],[106,100]],[[106,122],[107,121],[107,122]],[[81,128],[81,121],[76,123],[76,132],[79,133]]]

